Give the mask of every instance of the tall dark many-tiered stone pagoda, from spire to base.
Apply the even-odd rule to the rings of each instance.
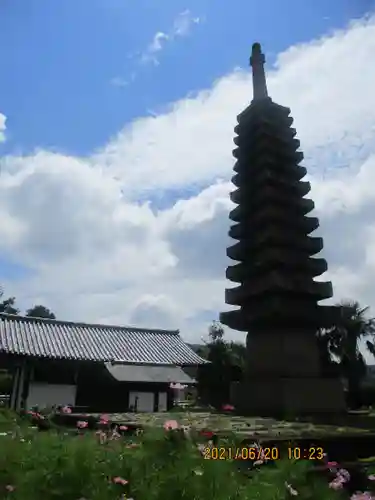
[[[334,323],[337,308],[318,305],[332,297],[330,282],[314,281],[327,270],[325,259],[313,257],[323,248],[322,238],[310,236],[319,221],[307,216],[314,203],[305,198],[300,142],[290,109],[268,96],[264,63],[255,43],[254,96],[235,127],[229,236],[238,242],[227,256],[237,263],[226,277],[239,285],[225,301],[239,308],[220,316],[248,332],[247,372],[234,403],[259,416],[335,413],[344,409],[343,389],[336,376],[323,376],[316,332]]]

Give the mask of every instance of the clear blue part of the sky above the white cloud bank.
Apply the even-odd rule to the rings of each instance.
[[[9,132],[2,152],[87,155],[125,123],[245,66],[254,40],[272,61],[370,7],[366,0],[3,0],[0,107]],[[168,33],[186,10],[201,22],[165,44],[158,66],[142,64],[154,35]],[[133,74],[127,86],[113,84]]]

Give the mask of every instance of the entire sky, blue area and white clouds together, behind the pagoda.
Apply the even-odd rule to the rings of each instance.
[[[375,307],[375,0],[0,0],[0,284],[21,310],[204,335],[254,41],[334,300]]]

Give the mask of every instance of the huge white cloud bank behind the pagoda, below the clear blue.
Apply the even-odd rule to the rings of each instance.
[[[372,18],[290,48],[268,80],[295,117],[335,299],[375,311],[374,52]],[[34,271],[7,292],[61,318],[181,328],[199,340],[225,309],[233,127],[251,95],[248,69],[237,70],[127,124],[89,158],[4,158],[1,249]],[[167,208],[147,201],[171,193]]]

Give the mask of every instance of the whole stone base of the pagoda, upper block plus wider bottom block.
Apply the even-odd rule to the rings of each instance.
[[[248,334],[245,380],[233,389],[233,404],[246,414],[282,417],[345,410],[342,383],[323,376],[311,329]]]

